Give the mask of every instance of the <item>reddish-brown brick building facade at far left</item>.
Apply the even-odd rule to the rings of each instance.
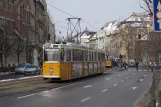
[[[0,1],[0,65],[4,65],[4,63],[5,66],[8,64],[13,65],[17,62],[23,63],[26,60],[24,49],[21,51],[22,54],[19,54],[20,51],[17,49],[20,47],[17,47],[17,45],[19,45],[20,42],[18,42],[18,38],[14,38],[14,36],[21,38],[23,41],[26,40],[27,5],[27,0]],[[4,40],[8,42],[4,42]],[[10,47],[15,50],[13,51]],[[17,58],[17,54],[19,55],[19,58]]]

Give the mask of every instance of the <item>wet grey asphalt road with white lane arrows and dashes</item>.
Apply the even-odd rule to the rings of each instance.
[[[115,71],[63,87],[0,99],[2,107],[133,107],[152,82],[148,69]]]

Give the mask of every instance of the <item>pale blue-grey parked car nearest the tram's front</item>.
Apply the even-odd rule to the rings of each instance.
[[[39,75],[41,74],[41,68],[38,65],[34,65],[34,64],[30,64],[27,65],[25,71],[24,71],[25,75]]]

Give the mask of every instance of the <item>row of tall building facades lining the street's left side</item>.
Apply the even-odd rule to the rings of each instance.
[[[0,0],[0,65],[40,64],[47,17],[46,0]]]

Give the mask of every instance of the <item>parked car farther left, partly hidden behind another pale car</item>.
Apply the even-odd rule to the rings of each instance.
[[[15,68],[15,74],[24,74],[24,71],[26,69],[26,67],[30,65],[28,63],[26,64],[19,64],[16,68]]]

